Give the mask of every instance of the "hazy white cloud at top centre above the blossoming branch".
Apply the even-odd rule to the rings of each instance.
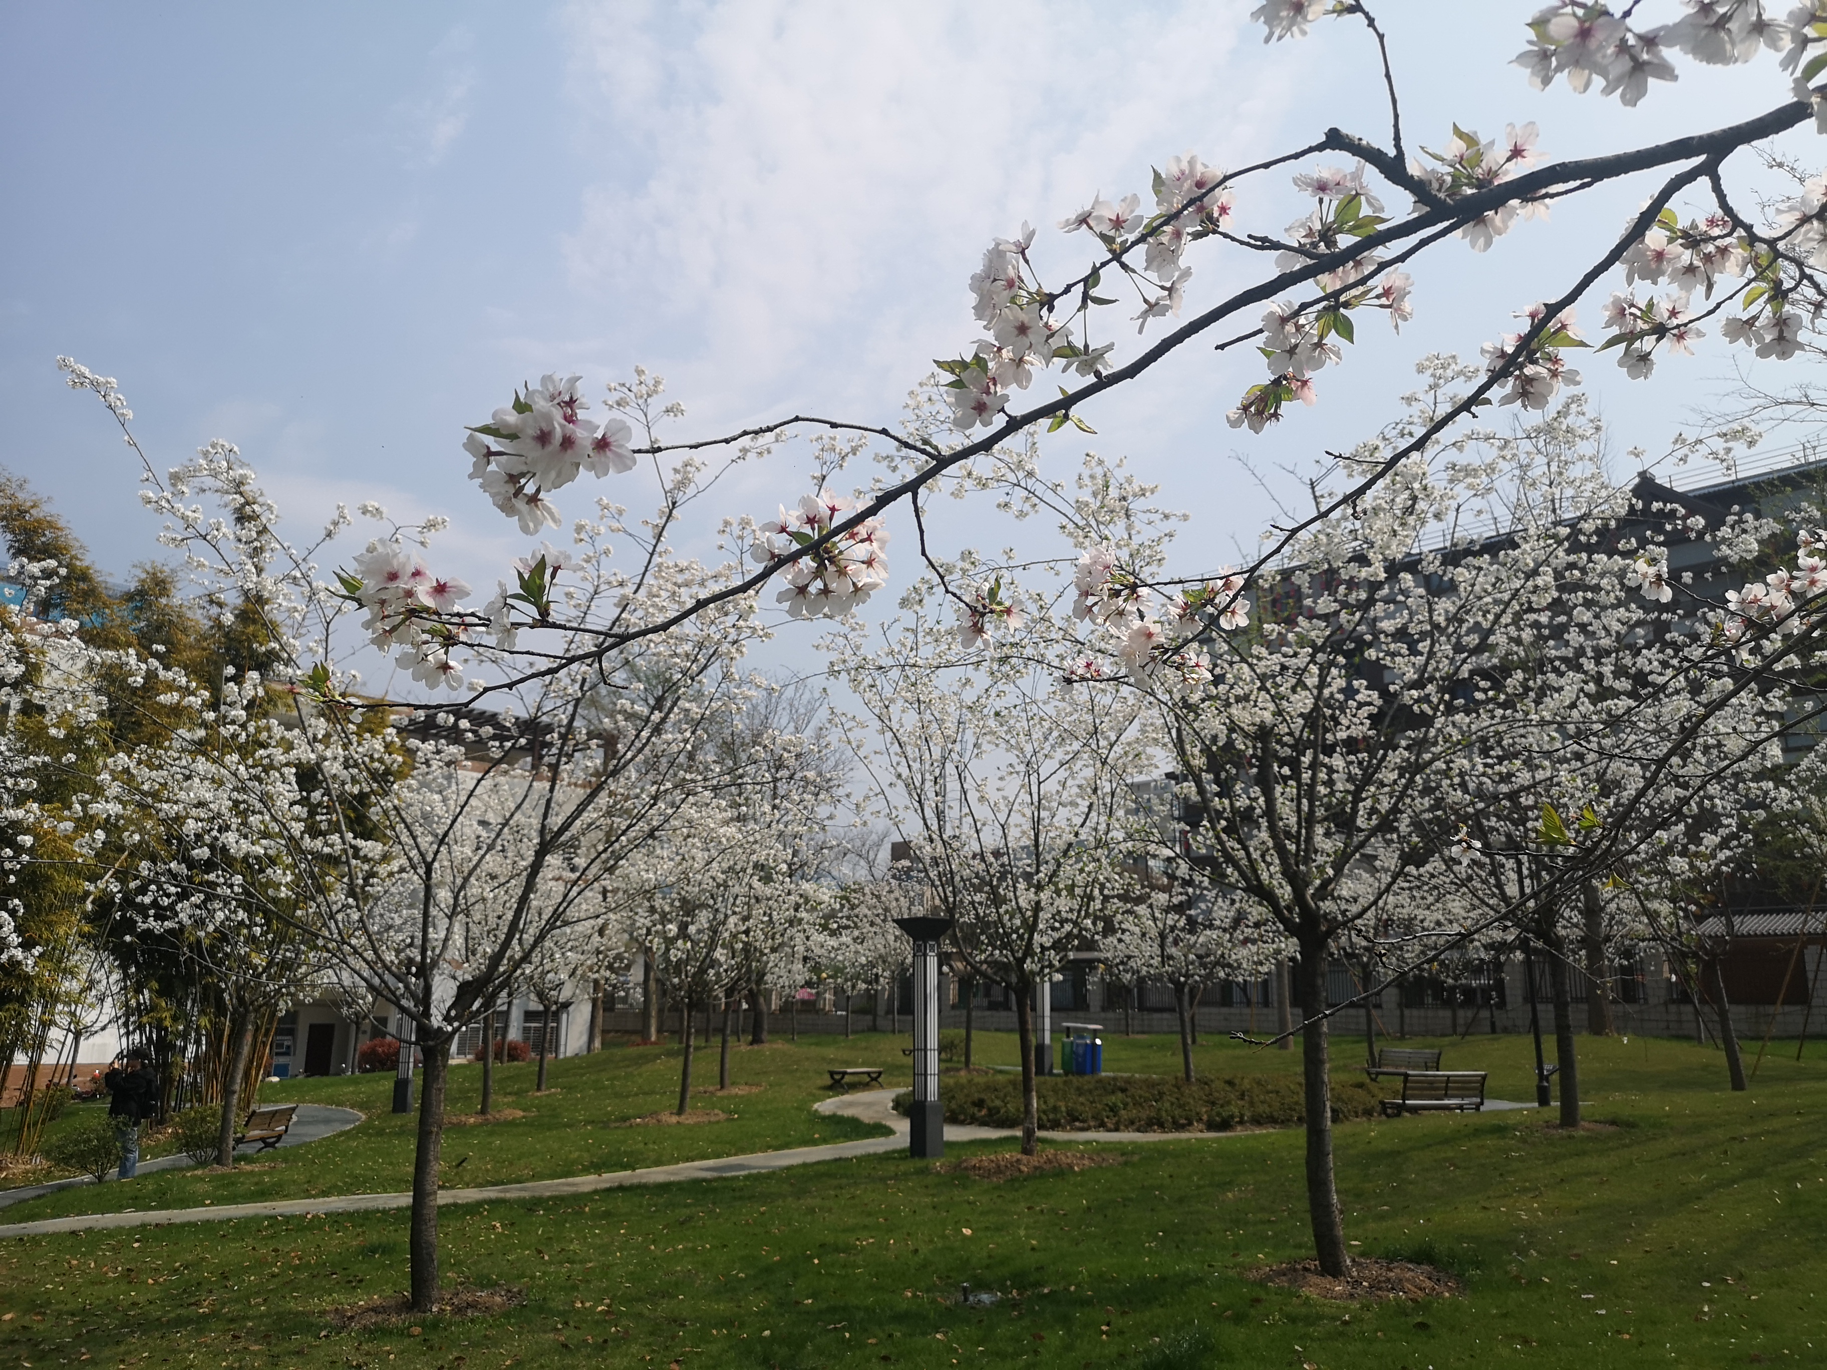
[[[897,404],[968,345],[994,236],[1266,144],[1292,58],[1239,49],[1246,11],[577,4],[572,279],[731,416]],[[1041,259],[1082,256],[1052,236]]]

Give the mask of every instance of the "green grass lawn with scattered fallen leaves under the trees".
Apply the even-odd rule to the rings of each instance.
[[[813,1131],[828,1140],[831,1120],[791,1116],[818,1092],[820,1067],[868,1059],[871,1047],[890,1063],[892,1045],[802,1039],[747,1052],[738,1080],[769,1089],[731,1103],[778,1100],[778,1122],[742,1107],[731,1123],[614,1129],[612,1145],[714,1154],[718,1134],[742,1138],[725,1151],[747,1151],[769,1129],[782,1145]],[[1014,1056],[1007,1041],[985,1047]],[[1346,1056],[1357,1043],[1339,1047]],[[336,1330],[329,1312],[404,1288],[404,1213],[15,1238],[0,1248],[0,1365],[1445,1370],[1827,1359],[1827,1054],[1800,1065],[1792,1047],[1772,1054],[1752,1091],[1734,1096],[1719,1054],[1690,1043],[1582,1049],[1589,1116],[1608,1127],[1562,1136],[1529,1111],[1337,1133],[1356,1249],[1456,1268],[1462,1299],[1346,1308],[1251,1282],[1248,1270],[1308,1253],[1301,1136],[1290,1131],[1118,1145],[1109,1151],[1122,1165],[1007,1184],[871,1156],[577,1202],[462,1206],[442,1217],[448,1280],[508,1282],[526,1304],[385,1330]],[[576,1122],[586,1111],[552,1125],[544,1105],[594,1091],[590,1116],[660,1107],[650,1076],[663,1067],[641,1056],[566,1063],[555,1078],[565,1092],[539,1100],[508,1083],[504,1103],[541,1112],[470,1134],[523,1127],[541,1173],[601,1169],[601,1129]],[[1111,1069],[1175,1059],[1171,1039],[1107,1049]],[[1200,1049],[1215,1072],[1295,1063],[1228,1043]],[[1447,1063],[1489,1069],[1496,1096],[1529,1092],[1524,1038],[1467,1038]],[[521,1078],[506,1072],[504,1083]],[[290,1091],[342,1101],[334,1091],[371,1083]],[[360,1098],[376,1107],[378,1096]],[[385,1186],[400,1187],[406,1134],[384,1145],[376,1127],[360,1140],[369,1127],[298,1149],[287,1171],[340,1147],[347,1165],[311,1173],[325,1193],[382,1187],[365,1180],[385,1165]],[[466,1145],[453,1134],[455,1154]],[[491,1158],[506,1167],[513,1145],[502,1145]],[[566,1147],[577,1164],[563,1164]],[[195,1202],[210,1186],[276,1175],[188,1176],[183,1195]],[[110,1196],[130,1193],[152,1206],[146,1182]],[[961,1308],[946,1301],[959,1280],[1003,1299]]]

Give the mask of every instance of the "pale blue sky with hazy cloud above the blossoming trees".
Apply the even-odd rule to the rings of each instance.
[[[438,564],[491,586],[524,539],[464,479],[459,444],[513,384],[577,371],[599,391],[641,362],[685,402],[681,435],[791,411],[893,422],[930,358],[968,347],[965,279],[990,237],[1030,219],[1063,274],[1085,239],[1051,225],[1100,188],[1146,194],[1171,153],[1235,166],[1334,122],[1387,133],[1361,31],[1264,47],[1250,7],[7,5],[0,464],[106,570],[157,555],[130,455],[93,400],[60,389],[66,353],[121,380],[161,466],[236,442],[300,532],[336,501],[446,513]],[[1505,62],[1533,7],[1378,5],[1410,141],[1535,119],[1551,155],[1577,155],[1783,99],[1769,57],[1683,64],[1635,111],[1531,91]],[[1794,150],[1818,159],[1812,137]],[[1321,407],[1270,435],[1222,418],[1255,358],[1195,347],[1089,411],[1094,442],[1195,515],[1188,555],[1248,552],[1272,510],[1237,453],[1288,480],[1281,468],[1374,431],[1418,356],[1476,354],[1648,186],[1557,208],[1484,258],[1445,245],[1416,270],[1414,325],[1363,327]],[[1239,199],[1248,228],[1297,212],[1286,177]],[[1191,263],[1193,309],[1255,265],[1209,248]],[[1593,332],[1602,298],[1582,311]],[[1655,451],[1730,369],[1708,353],[1648,384],[1608,360],[1586,374],[1619,449]],[[1051,438],[1047,460],[1069,469],[1085,442]],[[703,528],[802,480],[795,451],[745,468]],[[597,491],[574,491],[566,513],[585,513]],[[1030,535],[987,506],[950,517],[952,546]]]

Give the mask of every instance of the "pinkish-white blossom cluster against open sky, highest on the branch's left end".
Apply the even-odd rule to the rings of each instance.
[[[543,376],[464,438],[473,458],[470,479],[497,510],[519,521],[523,533],[559,526],[559,511],[546,495],[568,486],[579,471],[603,477],[634,469],[634,431],[621,418],[603,424],[583,418],[588,402],[577,393],[579,380]]]

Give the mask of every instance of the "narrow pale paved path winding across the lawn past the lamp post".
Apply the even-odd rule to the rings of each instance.
[[[599,1189],[625,1189],[643,1184],[674,1184],[678,1180],[718,1180],[729,1175],[764,1175],[784,1171],[793,1165],[813,1165],[824,1160],[850,1160],[853,1156],[879,1156],[906,1147],[908,1120],[892,1107],[897,1089],[871,1089],[855,1094],[839,1094],[813,1105],[815,1112],[842,1114],[868,1123],[881,1123],[893,1129],[888,1136],[866,1136],[857,1142],[831,1142],[822,1147],[793,1147],[789,1151],[758,1151],[749,1156],[723,1156],[718,1160],[687,1160],[678,1165],[649,1165],[639,1171],[608,1171],[605,1175],[576,1175],[566,1180],[532,1180],[526,1184],[491,1184],[473,1189],[440,1189],[438,1206],[446,1204],[488,1204],[513,1202],[517,1198],[565,1198],[568,1195],[588,1195]],[[1520,1103],[1487,1100],[1485,1107],[1520,1109]],[[303,1109],[300,1109],[303,1112]],[[360,1120],[360,1114],[356,1114]],[[296,1131],[296,1129],[294,1129]],[[333,1129],[340,1131],[340,1129]],[[983,1142],[990,1138],[1019,1136],[1012,1127],[968,1127],[948,1123],[946,1142]],[[1051,1142],[1184,1142],[1189,1138],[1244,1136],[1244,1133],[1041,1133]],[[157,1162],[141,1165],[150,1169]],[[60,1182],[71,1184],[71,1182]],[[31,1193],[60,1186],[38,1186]],[[11,1196],[0,1195],[0,1202],[27,1198],[27,1191],[15,1189]],[[146,1228],[166,1222],[228,1222],[232,1218],[263,1218],[283,1215],[318,1213],[373,1213],[376,1209],[411,1207],[409,1193],[395,1195],[342,1195],[331,1198],[289,1198],[265,1204],[212,1204],[210,1207],[152,1209],[146,1213],[88,1213],[68,1218],[40,1218],[38,1222],[15,1222],[0,1226],[0,1238],[35,1237],[42,1233],[88,1231],[95,1228]]]

